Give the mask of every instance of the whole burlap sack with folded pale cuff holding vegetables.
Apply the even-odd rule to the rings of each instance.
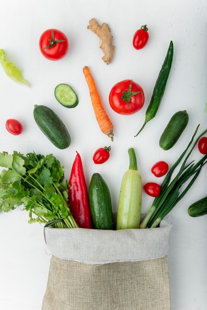
[[[170,230],[46,228],[42,310],[170,310]]]

